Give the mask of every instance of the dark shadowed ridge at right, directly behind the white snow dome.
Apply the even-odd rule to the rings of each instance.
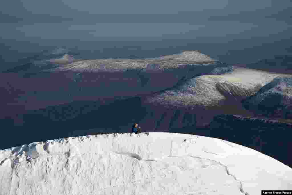
[[[210,137],[255,149],[292,167],[292,123],[276,120],[218,115],[207,127]]]

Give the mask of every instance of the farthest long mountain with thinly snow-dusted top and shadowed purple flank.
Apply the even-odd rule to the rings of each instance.
[[[173,87],[182,79],[206,74],[221,65],[196,51],[171,56],[154,60],[71,60],[72,56],[65,55],[37,68],[28,64],[11,70],[14,74],[1,75],[0,88],[5,89],[3,97],[7,100],[2,104],[4,108],[13,105],[12,113],[25,113],[72,101],[127,99]]]

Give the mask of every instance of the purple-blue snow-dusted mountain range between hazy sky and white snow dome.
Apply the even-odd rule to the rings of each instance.
[[[1,73],[1,124],[27,137],[27,143],[129,132],[134,122],[142,132],[187,130],[212,136],[208,125],[222,114],[292,123],[292,76],[284,71],[289,69],[289,56],[276,56],[274,64],[279,65],[270,69],[272,63],[265,66],[265,61],[229,65],[198,51],[146,59],[58,55],[30,59]],[[237,125],[233,126],[234,135]],[[252,133],[248,126],[245,131]],[[238,141],[233,135],[226,135],[226,140]],[[24,139],[14,141],[0,148],[25,144]]]

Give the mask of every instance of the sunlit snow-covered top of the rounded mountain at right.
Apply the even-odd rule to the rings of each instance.
[[[217,67],[209,75],[193,77],[184,84],[148,98],[145,102],[181,106],[216,106],[225,94],[246,98],[258,86],[271,82],[280,74],[236,66]]]

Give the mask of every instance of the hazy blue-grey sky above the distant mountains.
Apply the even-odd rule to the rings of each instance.
[[[83,44],[84,50],[100,50],[99,41],[119,41],[121,48],[121,41],[136,42],[147,48],[140,51],[145,57],[147,51],[163,55],[163,48],[169,54],[199,50],[228,63],[291,52],[288,0],[11,0],[0,11],[0,49],[6,61],[17,58],[13,52],[25,56],[45,46]],[[155,44],[138,43],[146,40]]]

